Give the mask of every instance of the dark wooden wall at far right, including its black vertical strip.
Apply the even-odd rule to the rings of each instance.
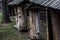
[[[60,12],[48,8],[47,10],[48,40],[60,40]]]

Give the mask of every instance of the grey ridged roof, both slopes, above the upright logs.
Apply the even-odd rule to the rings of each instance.
[[[26,1],[26,0],[13,0],[10,5],[17,5],[20,4],[21,2]],[[54,9],[60,9],[60,0],[29,0],[30,2],[34,2],[39,5],[43,5],[46,7],[51,7]]]

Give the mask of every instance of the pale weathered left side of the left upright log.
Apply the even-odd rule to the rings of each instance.
[[[20,27],[22,25],[22,18],[21,18],[21,15],[22,15],[22,9],[21,7],[17,6],[17,15],[16,15],[16,28],[18,28],[20,30]]]

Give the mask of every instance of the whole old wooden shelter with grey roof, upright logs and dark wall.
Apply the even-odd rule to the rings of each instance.
[[[28,28],[28,16],[30,19],[30,38],[38,40],[39,38],[39,27],[40,21],[46,23],[47,26],[47,40],[60,40],[60,10],[59,7],[50,8],[51,3],[57,1],[37,1],[29,0],[14,0],[10,4],[14,6],[15,18],[16,18],[16,28],[19,30],[25,30]],[[49,4],[50,3],[50,4]],[[58,3],[58,2],[57,2]],[[52,5],[53,5],[52,4]],[[58,3],[59,4],[59,3]],[[44,5],[44,6],[42,6]],[[56,6],[56,5],[55,5]]]

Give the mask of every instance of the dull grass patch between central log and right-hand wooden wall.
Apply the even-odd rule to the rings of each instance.
[[[46,25],[44,24],[41,24],[40,25],[40,39],[41,40],[47,40],[47,28],[46,28]]]

